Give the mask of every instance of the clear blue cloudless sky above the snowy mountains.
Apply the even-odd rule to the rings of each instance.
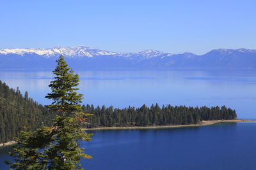
[[[256,49],[256,1],[0,0],[0,48]]]

